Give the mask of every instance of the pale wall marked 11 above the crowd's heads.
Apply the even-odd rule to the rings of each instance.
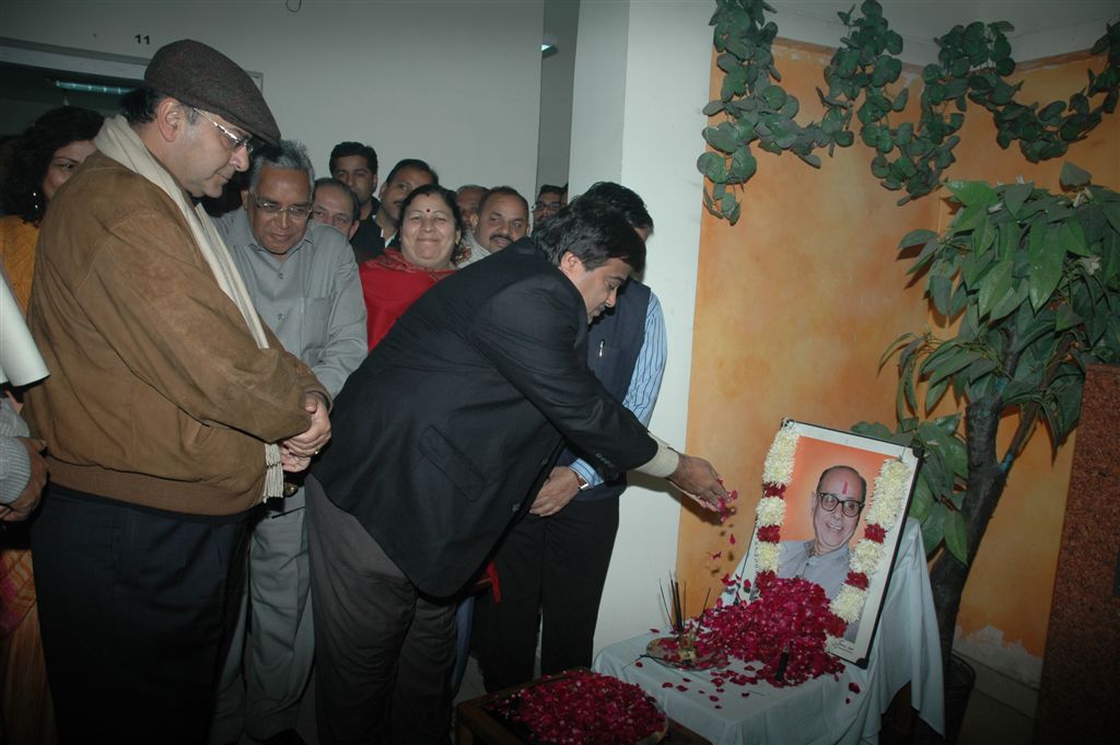
[[[281,0],[0,0],[0,36],[143,57],[195,38],[263,74],[281,132],[308,146],[319,175],[335,143],[362,140],[382,176],[419,157],[450,187],[533,193],[543,0],[287,4],[299,11]]]

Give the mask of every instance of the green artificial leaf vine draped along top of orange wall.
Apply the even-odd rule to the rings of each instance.
[[[815,150],[827,149],[831,156],[838,146],[850,147],[856,119],[860,140],[876,151],[871,173],[885,188],[905,190],[898,201],[905,204],[942,185],[942,174],[955,160],[956,132],[969,101],[992,113],[1000,147],[1018,141],[1024,157],[1038,162],[1063,156],[1103,114],[1116,111],[1120,100],[1120,24],[1109,25],[1092,47],[1093,55],[1108,53],[1104,69],[1090,72],[1089,84],[1067,101],[1040,106],[1016,101],[1021,83],[1006,80],[1015,72],[1006,36],[1011,25],[977,21],[936,39],[937,63],[922,71],[917,123],[893,124],[890,115],[905,111],[909,99],[909,89],[898,83],[903,38],[890,29],[876,0],[865,0],[859,11],[856,15],[852,7],[838,13],[848,34],[824,71],[828,92],[816,89],[825,112],[820,121],[801,124],[800,102],[780,85],[774,65],[777,26],[766,20],[774,9],[765,0],[717,0],[711,25],[724,81],[719,99],[703,111],[722,121],[704,129],[711,149],[697,161],[711,181],[711,188],[704,188],[704,206],[712,214],[732,224],[738,221],[736,192],[758,166],[754,145],[775,155],[792,152],[820,168]]]

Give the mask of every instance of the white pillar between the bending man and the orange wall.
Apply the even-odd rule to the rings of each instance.
[[[651,429],[683,448],[700,252],[701,109],[711,65],[710,0],[580,6],[571,193],[601,179],[642,195],[654,220],[645,281],[661,299],[669,362]],[[717,464],[718,466],[718,464]],[[646,482],[650,483],[650,482]],[[599,611],[596,649],[664,627],[659,583],[676,568],[680,502],[632,486]]]

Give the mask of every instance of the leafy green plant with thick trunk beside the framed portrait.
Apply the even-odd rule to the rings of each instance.
[[[1063,194],[946,184],[959,204],[949,229],[899,243],[944,335],[906,333],[888,346],[880,366],[897,355],[896,425],[853,427],[926,453],[911,514],[933,558],[946,670],[961,594],[1016,459],[1039,425],[1061,447],[1081,413],[1085,367],[1120,362],[1120,194],[1071,164],[1061,181]],[[963,412],[931,418],[950,390]],[[1000,426],[1015,426],[1002,451]]]

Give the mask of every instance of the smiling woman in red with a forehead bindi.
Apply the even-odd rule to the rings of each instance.
[[[370,348],[432,285],[455,271],[451,262],[463,239],[455,193],[437,184],[412,190],[401,206],[400,249],[358,267],[365,297]]]

